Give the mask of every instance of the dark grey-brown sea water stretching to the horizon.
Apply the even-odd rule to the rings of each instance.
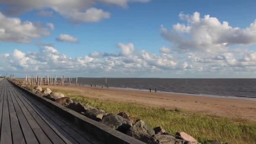
[[[75,78],[72,79],[73,83]],[[78,78],[77,83],[105,87],[105,78]],[[256,79],[180,79],[180,78],[107,78],[111,88],[170,93],[187,93],[202,96],[232,96],[256,98]]]

